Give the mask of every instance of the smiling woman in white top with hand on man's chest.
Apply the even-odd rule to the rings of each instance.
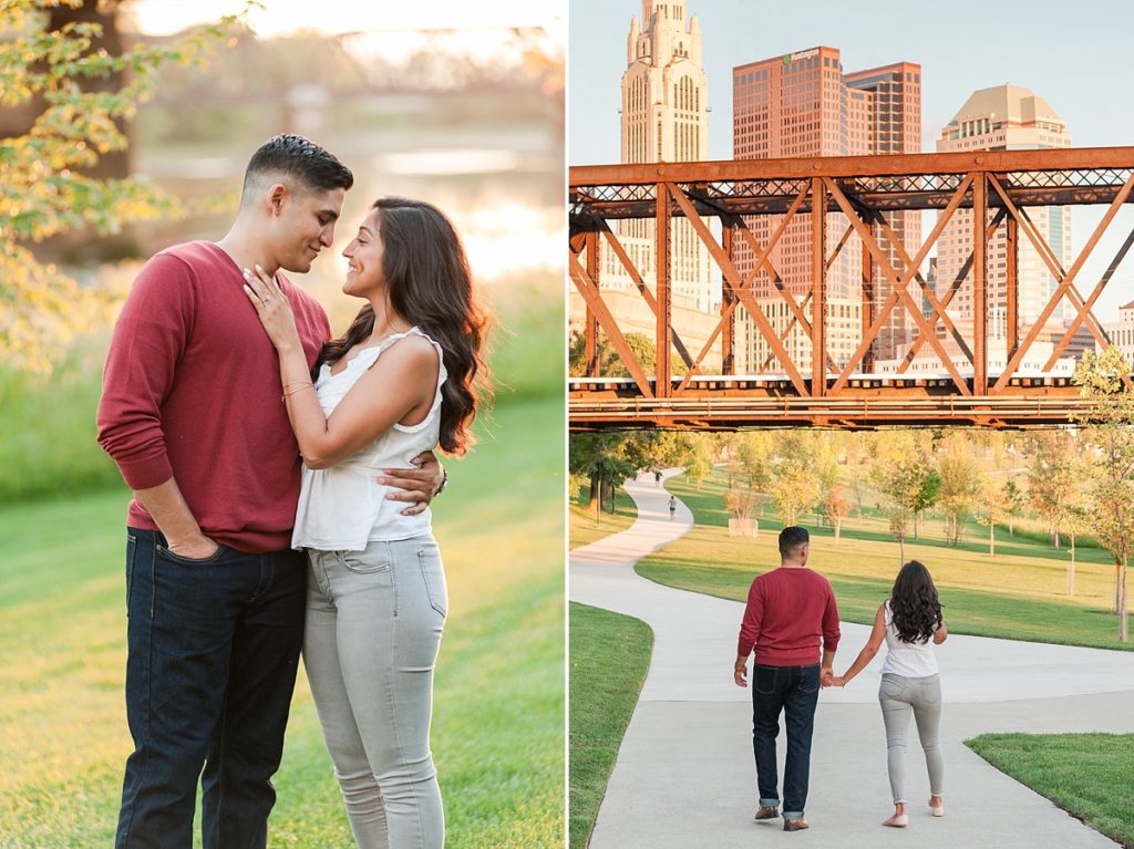
[[[276,281],[245,272],[304,459],[304,661],[357,844],[441,849],[429,730],[445,572],[428,508],[404,510],[374,482],[471,445],[486,322],[460,240],[429,204],[379,199],[342,253],[342,291],[367,303],[323,346],[314,381]]]

